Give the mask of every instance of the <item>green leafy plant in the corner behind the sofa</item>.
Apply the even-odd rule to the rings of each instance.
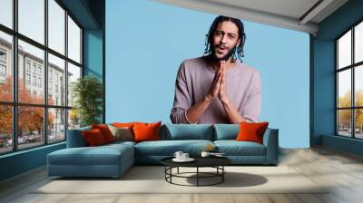
[[[85,76],[73,83],[74,108],[81,127],[101,122],[103,84],[93,76]]]

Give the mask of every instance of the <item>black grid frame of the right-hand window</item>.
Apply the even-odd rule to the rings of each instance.
[[[358,22],[356,22],[355,24],[352,24],[351,26],[349,26],[349,28],[344,31],[342,34],[338,35],[337,38],[334,39],[334,47],[335,47],[335,135],[338,137],[344,137],[344,138],[349,138],[349,139],[354,139],[354,140],[363,140],[363,138],[358,138],[356,137],[356,110],[359,109],[363,109],[363,106],[356,106],[356,89],[355,89],[355,83],[356,83],[356,77],[355,77],[355,72],[356,69],[359,68],[359,66],[363,65],[363,61],[355,63],[355,28],[358,24],[363,24],[363,19],[358,20]],[[348,32],[351,32],[351,58],[350,58],[350,64],[348,66],[345,67],[341,67],[339,69],[338,67],[338,40],[344,36],[344,34],[348,34]],[[351,95],[350,95],[350,107],[338,107],[338,73],[346,71],[346,70],[350,70],[350,79],[351,79],[351,84],[350,84],[350,89],[351,89]],[[338,111],[339,110],[350,110],[350,137],[348,136],[344,136],[339,134],[338,131]]]

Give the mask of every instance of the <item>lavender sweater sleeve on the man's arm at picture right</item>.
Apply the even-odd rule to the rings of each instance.
[[[245,105],[242,106],[240,115],[248,122],[258,122],[261,111],[261,80],[260,73],[252,74],[248,99]]]

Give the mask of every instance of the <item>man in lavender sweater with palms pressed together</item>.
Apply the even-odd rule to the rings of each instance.
[[[245,40],[239,19],[218,16],[214,20],[204,56],[187,59],[179,68],[172,123],[258,121],[260,73],[240,59]]]

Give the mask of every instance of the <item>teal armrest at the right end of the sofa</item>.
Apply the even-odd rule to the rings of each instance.
[[[277,164],[279,158],[279,129],[267,129],[263,135],[263,145],[266,147],[266,162]]]

